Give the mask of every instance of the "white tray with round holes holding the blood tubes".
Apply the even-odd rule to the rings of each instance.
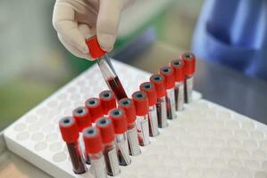
[[[129,95],[150,77],[118,61],[113,65]],[[58,120],[106,88],[99,69],[88,69],[10,125],[4,131],[8,149],[54,177],[93,177],[73,174]],[[200,93],[193,98],[140,156],[131,157],[130,166],[121,166],[118,178],[267,177],[266,125],[201,100]]]

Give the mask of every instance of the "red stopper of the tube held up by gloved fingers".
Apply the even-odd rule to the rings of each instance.
[[[88,50],[92,58],[100,58],[106,53],[98,44],[96,36],[86,39],[86,44],[88,45]]]

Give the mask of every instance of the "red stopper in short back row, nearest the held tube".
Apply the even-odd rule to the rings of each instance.
[[[105,90],[99,94],[102,109],[105,115],[108,114],[109,110],[116,108],[116,97],[115,94],[110,90]]]

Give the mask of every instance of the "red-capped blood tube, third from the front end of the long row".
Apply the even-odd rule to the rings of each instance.
[[[127,117],[123,109],[112,109],[109,117],[113,120],[118,158],[121,166],[128,166],[131,163],[129,158],[129,146],[127,140]]]

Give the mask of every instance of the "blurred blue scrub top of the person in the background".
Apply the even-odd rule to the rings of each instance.
[[[267,1],[206,0],[192,51],[203,60],[267,79]]]

